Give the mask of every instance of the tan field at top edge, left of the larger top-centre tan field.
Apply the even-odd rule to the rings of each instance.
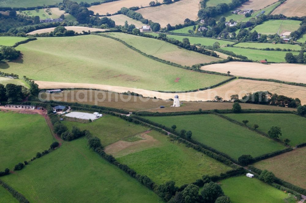
[[[94,13],[99,13],[100,15],[105,15],[106,13],[114,14],[119,11],[122,7],[130,8],[133,6],[148,6],[152,0],[120,0],[114,2],[108,2],[100,5],[94,5],[88,9]]]

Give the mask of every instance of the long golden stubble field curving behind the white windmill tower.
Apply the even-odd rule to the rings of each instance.
[[[306,87],[279,84],[274,82],[257,81],[257,80],[233,80],[225,85],[214,89],[188,92],[188,93],[162,93],[157,91],[143,90],[130,87],[119,87],[101,84],[80,84],[80,83],[58,83],[35,81],[40,89],[56,89],[56,88],[84,88],[84,89],[99,89],[111,92],[136,92],[144,97],[156,97],[160,99],[174,98],[178,95],[181,101],[208,101],[215,98],[216,95],[221,96],[225,100],[229,100],[233,94],[238,94],[241,98],[246,93],[256,91],[269,91],[271,93],[285,95],[287,97],[299,98],[302,104],[306,104]]]

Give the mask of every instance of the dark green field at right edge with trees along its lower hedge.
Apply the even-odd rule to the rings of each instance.
[[[306,119],[294,114],[274,114],[274,113],[241,113],[226,114],[226,116],[242,122],[248,120],[247,124],[252,127],[254,124],[259,125],[257,130],[267,133],[272,126],[278,126],[282,130],[283,140],[288,138],[291,140],[291,146],[306,142]]]

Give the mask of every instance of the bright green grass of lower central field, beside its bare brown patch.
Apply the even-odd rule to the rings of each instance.
[[[157,184],[173,180],[181,186],[201,179],[204,174],[219,175],[231,169],[159,132],[151,131],[147,135],[155,141],[126,148],[119,152],[117,160],[137,173],[147,175]]]

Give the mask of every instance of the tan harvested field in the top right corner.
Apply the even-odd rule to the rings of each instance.
[[[305,0],[287,0],[271,14],[283,14],[285,16],[305,16],[306,15],[306,1]]]

